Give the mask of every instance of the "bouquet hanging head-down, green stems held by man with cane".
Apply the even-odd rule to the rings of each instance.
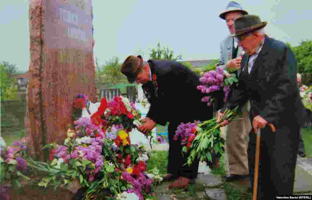
[[[221,121],[232,120],[236,110],[227,109]],[[224,139],[221,137],[220,124],[217,118],[193,123],[181,123],[173,137],[181,140],[182,154],[188,156],[187,165],[191,165],[195,159],[206,162],[210,168],[218,167],[218,162],[224,154]]]

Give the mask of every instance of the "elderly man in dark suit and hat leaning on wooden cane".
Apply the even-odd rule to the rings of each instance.
[[[243,106],[248,100],[252,129],[249,133],[248,163],[254,184],[256,133],[261,129],[257,199],[292,195],[299,132],[305,122],[304,106],[297,87],[295,56],[286,44],[269,38],[259,16],[245,15],[234,22],[239,45],[245,50],[238,87],[218,113]],[[220,120],[218,120],[220,123]],[[225,126],[228,122],[222,122]],[[275,132],[268,124],[273,124]],[[272,126],[273,127],[273,126]],[[256,166],[258,167],[258,166]]]

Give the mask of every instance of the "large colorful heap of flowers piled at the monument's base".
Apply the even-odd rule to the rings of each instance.
[[[103,98],[96,106],[87,96],[74,101],[73,126],[63,144],[51,143],[49,160],[35,161],[21,141],[5,147],[1,143],[1,181],[20,188],[20,179],[42,187],[84,189],[83,199],[153,199],[162,178],[157,168],[146,171],[149,160],[143,146],[132,145],[129,134],[140,123],[140,111],[127,98]],[[92,113],[92,115],[91,115]],[[40,179],[30,178],[31,174]],[[8,198],[7,188],[0,195]]]

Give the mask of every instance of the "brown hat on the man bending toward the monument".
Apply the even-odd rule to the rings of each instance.
[[[136,80],[142,63],[143,59],[140,55],[138,55],[137,57],[128,56],[124,60],[124,63],[122,63],[121,73],[123,73],[127,77],[129,83],[133,83]]]

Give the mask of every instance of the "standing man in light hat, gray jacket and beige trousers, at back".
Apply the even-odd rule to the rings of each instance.
[[[233,34],[234,20],[246,14],[248,14],[248,12],[243,10],[239,3],[231,1],[227,5],[225,11],[221,12],[220,18],[226,21],[230,33]],[[238,77],[240,74],[242,54],[244,54],[244,52],[243,49],[238,46],[237,39],[227,36],[220,44],[220,59],[217,66],[227,71],[236,70],[234,73]],[[225,160],[226,163],[228,162],[227,175],[225,177],[226,181],[243,179],[249,174],[247,147],[251,123],[247,110],[248,103],[241,109],[239,117],[243,119],[232,121],[228,124],[226,129],[226,151],[228,157],[228,160]]]

